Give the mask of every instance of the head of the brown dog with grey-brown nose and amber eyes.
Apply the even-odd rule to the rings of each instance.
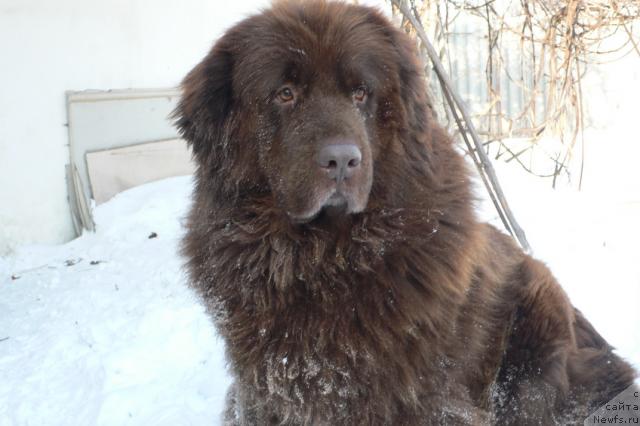
[[[242,21],[182,88],[174,115],[201,180],[218,196],[266,192],[294,222],[366,210],[403,167],[398,134],[426,117],[412,43],[343,3],[280,2]]]

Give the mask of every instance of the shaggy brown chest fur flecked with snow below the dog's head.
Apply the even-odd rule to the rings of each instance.
[[[185,251],[251,392],[294,423],[333,413],[348,424],[354,406],[368,405],[358,412],[372,422],[425,411],[425,393],[446,385],[474,227],[398,209],[360,215],[336,234],[291,227],[267,203],[236,213],[208,222],[195,209]]]

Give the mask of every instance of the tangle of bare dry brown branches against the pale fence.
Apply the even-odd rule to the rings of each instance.
[[[571,178],[569,166],[577,160],[572,169],[582,181],[582,79],[593,63],[640,55],[634,34],[640,1],[388,1],[400,25],[415,32],[398,8],[408,6],[445,68],[454,79],[466,79],[466,84],[459,81],[458,90],[473,107],[488,153],[550,177],[554,185],[561,174]],[[466,68],[460,66],[460,56],[470,54],[480,63],[470,60]],[[438,80],[427,68],[433,99],[441,100],[433,107],[459,136]]]

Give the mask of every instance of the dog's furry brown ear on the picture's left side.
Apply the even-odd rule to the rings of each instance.
[[[182,97],[171,114],[198,159],[224,145],[232,103],[232,55],[215,46],[182,81]]]

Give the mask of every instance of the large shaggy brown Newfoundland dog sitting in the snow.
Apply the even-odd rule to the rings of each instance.
[[[183,82],[184,253],[230,425],[582,424],[634,373],[549,270],[479,223],[414,42],[280,2]]]

